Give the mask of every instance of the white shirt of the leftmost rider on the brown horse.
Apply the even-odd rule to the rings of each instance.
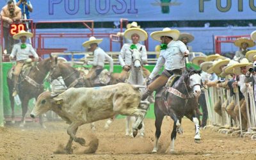
[[[16,56],[16,60],[20,61],[27,60],[29,56],[34,56],[36,59],[38,59],[38,55],[36,54],[31,44],[26,44],[27,47],[25,49],[20,48],[21,44],[22,43],[19,42],[18,44],[13,45],[12,53],[10,55],[12,58]]]

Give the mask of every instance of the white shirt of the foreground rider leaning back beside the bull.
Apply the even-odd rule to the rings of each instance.
[[[163,65],[166,70],[184,68],[186,64],[185,60],[182,61],[182,58],[185,52],[189,54],[189,51],[183,42],[180,40],[172,40],[167,45],[167,49],[161,50],[156,66],[154,67],[154,70],[150,74],[149,78],[153,79],[156,77]]]

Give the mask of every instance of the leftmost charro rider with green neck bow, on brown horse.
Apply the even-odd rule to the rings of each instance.
[[[35,60],[38,61],[38,55],[36,54],[35,50],[33,49],[31,44],[27,44],[26,40],[33,36],[32,33],[26,31],[20,31],[16,35],[13,35],[13,39],[19,40],[18,44],[15,44],[12,49],[12,54],[10,55],[10,59],[12,60],[14,56],[16,56],[16,65],[14,69],[14,79],[13,79],[13,96],[17,95],[18,93],[18,81],[19,81],[19,74],[22,70],[22,66],[24,62],[29,58],[29,55],[33,55]]]

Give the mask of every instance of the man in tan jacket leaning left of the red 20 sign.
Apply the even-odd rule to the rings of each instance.
[[[19,43],[19,40],[13,40],[12,35],[10,35],[10,24],[20,20],[21,11],[18,6],[15,6],[13,0],[10,0],[7,2],[7,5],[2,8],[0,14],[3,19],[4,49],[6,49],[7,54],[10,54],[13,45]]]

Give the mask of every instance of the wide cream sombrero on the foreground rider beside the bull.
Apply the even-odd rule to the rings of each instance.
[[[157,41],[161,41],[161,36],[170,36],[173,40],[178,40],[180,31],[177,29],[164,28],[163,31],[154,31],[150,36]]]

